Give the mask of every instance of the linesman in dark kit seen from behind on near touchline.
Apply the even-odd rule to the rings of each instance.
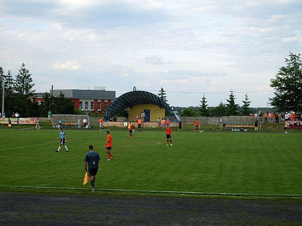
[[[88,163],[88,176],[90,176],[91,190],[95,191],[94,183],[96,181],[96,175],[99,170],[100,156],[99,153],[93,151],[93,146],[89,145],[89,152],[85,156],[84,169],[87,172]]]

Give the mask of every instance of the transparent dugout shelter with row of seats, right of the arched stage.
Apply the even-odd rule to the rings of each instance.
[[[259,117],[233,116],[221,117],[221,130],[255,130],[255,120],[258,119],[258,130],[261,130],[261,121]]]

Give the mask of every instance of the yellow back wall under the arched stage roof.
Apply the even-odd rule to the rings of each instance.
[[[157,122],[158,118],[165,117],[165,108],[160,108],[160,106],[154,104],[137,104],[129,107],[129,121],[136,122],[137,115],[140,117],[140,113],[144,109],[150,110],[150,122]]]

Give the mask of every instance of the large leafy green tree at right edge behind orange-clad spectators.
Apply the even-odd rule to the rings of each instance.
[[[302,61],[301,54],[289,52],[289,59],[285,58],[286,66],[282,66],[276,78],[271,79],[270,86],[276,91],[275,96],[269,98],[270,104],[279,111],[302,110]]]

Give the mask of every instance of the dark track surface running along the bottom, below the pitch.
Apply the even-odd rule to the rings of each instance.
[[[0,225],[302,225],[302,201],[0,192]]]

